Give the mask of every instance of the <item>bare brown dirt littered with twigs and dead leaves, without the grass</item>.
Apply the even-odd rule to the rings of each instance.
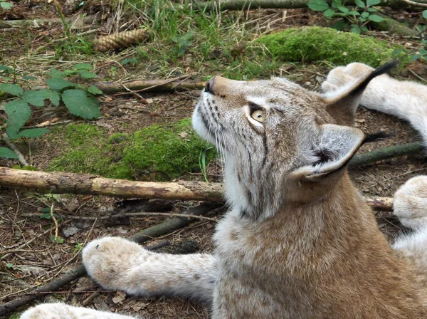
[[[0,19],[43,19],[58,18],[53,2],[44,1],[21,1],[15,2],[16,7],[11,11],[1,11]],[[108,6],[102,6],[102,13],[108,12]],[[71,10],[71,9],[70,9]],[[85,8],[87,11],[100,11],[100,4],[95,1],[91,6]],[[405,13],[394,13],[396,16]],[[68,14],[71,16],[72,14]],[[265,16],[281,16],[283,11],[263,10],[253,11],[249,19],[260,19]],[[272,30],[286,28],[288,26],[313,25],[325,23],[320,15],[307,13],[307,10],[288,10],[290,18],[283,22],[270,23]],[[410,19],[410,18],[408,18]],[[412,18],[411,18],[412,19]],[[272,19],[274,21],[274,19]],[[281,24],[280,24],[281,23]],[[106,31],[100,31],[106,32]],[[28,63],[26,52],[37,51],[38,48],[46,46],[47,38],[61,38],[63,28],[60,25],[47,26],[44,28],[9,28],[9,31],[0,29],[0,37],[11,41],[8,48],[0,47],[1,56],[16,56],[16,62]],[[399,38],[388,33],[373,32],[379,38],[399,43],[410,42],[407,38]],[[9,39],[9,40],[8,40]],[[26,47],[31,41],[31,48]],[[411,43],[410,43],[411,44]],[[44,49],[43,49],[44,50]],[[123,58],[130,54],[132,49],[120,53]],[[48,70],[52,65],[56,66],[62,62],[49,61],[49,51],[40,51],[39,55],[33,55],[33,60],[38,63],[38,70]],[[117,58],[117,56],[116,56]],[[39,60],[37,60],[39,59]],[[97,70],[101,75],[115,61],[106,61],[98,58]],[[32,61],[31,63],[34,63]],[[67,63],[67,62],[63,62]],[[33,66],[32,66],[33,67]],[[149,73],[144,70],[122,70],[117,67],[122,79],[139,77],[150,78]],[[283,75],[297,81],[307,88],[318,90],[320,83],[329,70],[328,66],[304,66],[295,67],[286,65]],[[411,70],[421,78],[427,78],[427,67],[422,63],[415,63]],[[172,77],[174,74],[171,75]],[[152,76],[155,78],[155,76]],[[399,73],[400,78],[419,80],[413,73],[404,70]],[[203,78],[203,75],[194,75],[194,80]],[[194,103],[199,92],[188,91],[184,93],[144,95],[149,104],[142,105],[137,98],[131,95],[111,95],[100,98],[102,117],[94,121],[96,125],[105,127],[109,132],[135,132],[141,127],[154,123],[172,122],[191,115]],[[49,120],[52,115],[42,113],[39,121]],[[43,117],[44,116],[44,117]],[[57,113],[60,121],[73,120],[74,117],[63,113]],[[124,128],[123,123],[127,125]],[[419,140],[415,130],[408,123],[401,120],[360,108],[357,113],[357,127],[364,132],[378,132],[385,130],[394,136],[387,140],[365,145],[359,151],[369,152],[380,147],[399,145],[406,142]],[[52,142],[48,139],[37,139],[26,145],[25,155],[28,162],[38,169],[45,169],[48,163],[60,155],[60,142]],[[48,150],[40,152],[37,150]],[[12,167],[16,162],[12,160],[0,160],[0,166]],[[366,196],[393,197],[396,189],[406,182],[410,177],[418,174],[426,174],[426,159],[422,155],[411,157],[399,157],[392,160],[379,162],[368,167],[359,167],[350,171],[352,180],[357,188]],[[209,180],[221,182],[221,166],[217,161],[209,164]],[[201,174],[192,173],[182,179],[202,180]],[[136,204],[135,204],[136,203]],[[125,236],[130,237],[142,229],[161,223],[170,218],[167,212],[174,213],[183,211],[186,206],[197,203],[171,203],[166,214],[162,216],[132,216],[127,219],[112,222],[107,216],[115,214],[120,209],[127,211],[141,211],[139,202],[122,202],[119,199],[108,197],[72,196],[63,194],[52,197],[35,191],[21,189],[9,189],[0,187],[0,305],[17,298],[22,298],[33,288],[46,285],[46,283],[58,278],[78,267],[81,263],[80,249],[88,241],[102,236]],[[147,204],[147,203],[143,203]],[[42,209],[46,206],[55,206],[63,220],[56,225],[52,219],[41,219]],[[135,205],[137,208],[135,208]],[[146,211],[149,205],[144,206]],[[379,228],[392,241],[394,236],[401,231],[399,222],[394,216],[387,212],[376,213]],[[220,219],[221,210],[209,216],[211,219]],[[170,245],[181,242],[184,239],[194,239],[199,244],[199,251],[212,251],[211,235],[213,234],[215,221],[201,219],[191,223],[184,229],[179,229],[147,243],[156,244],[167,240]],[[63,243],[51,241],[51,236],[58,234]],[[209,308],[199,303],[192,303],[177,298],[134,298],[126,296],[125,293],[115,291],[102,291],[93,281],[82,277],[55,291],[47,300],[61,300],[72,305],[84,305],[99,310],[111,310],[120,313],[144,316],[144,318],[209,318]],[[22,309],[21,309],[22,310]],[[16,317],[11,317],[16,318]]]

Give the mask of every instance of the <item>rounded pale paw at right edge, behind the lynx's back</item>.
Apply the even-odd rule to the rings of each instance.
[[[408,180],[394,194],[394,214],[413,229],[427,226],[427,176]]]

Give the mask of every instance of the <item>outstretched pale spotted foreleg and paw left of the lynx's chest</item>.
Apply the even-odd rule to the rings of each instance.
[[[211,302],[216,281],[214,256],[147,251],[119,237],[90,242],[83,249],[88,274],[107,289],[140,296],[182,296]]]

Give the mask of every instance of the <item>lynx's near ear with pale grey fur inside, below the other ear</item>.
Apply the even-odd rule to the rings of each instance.
[[[364,133],[354,127],[323,124],[313,148],[316,160],[291,174],[300,182],[317,182],[344,167],[364,143]]]

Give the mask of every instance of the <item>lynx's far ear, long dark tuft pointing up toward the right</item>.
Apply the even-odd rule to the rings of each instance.
[[[392,68],[395,68],[397,61],[387,63],[376,70],[371,71],[361,78],[344,85],[338,90],[327,93],[325,95],[325,103],[327,104],[327,112],[330,113],[339,125],[353,125],[354,114],[357,106],[359,106],[360,98],[369,82],[378,75],[388,73]]]

